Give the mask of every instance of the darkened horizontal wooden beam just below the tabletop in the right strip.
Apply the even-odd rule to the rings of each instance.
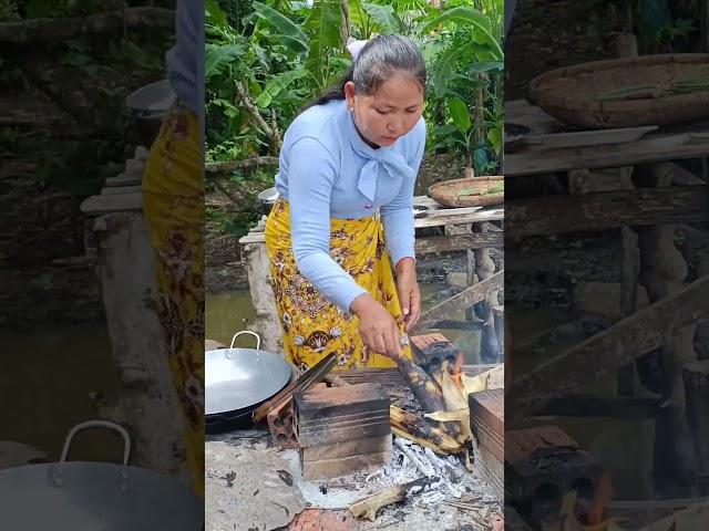
[[[549,196],[507,202],[512,238],[709,220],[709,186]]]

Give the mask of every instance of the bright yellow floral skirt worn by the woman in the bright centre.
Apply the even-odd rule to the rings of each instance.
[[[284,199],[274,205],[268,216],[266,249],[284,348],[291,363],[304,371],[335,352],[336,371],[397,366],[391,358],[362,344],[357,316],[337,308],[300,274],[292,254],[290,210]],[[391,313],[403,335],[403,314],[379,216],[331,219],[330,256]],[[411,358],[409,345],[403,347],[403,354]]]

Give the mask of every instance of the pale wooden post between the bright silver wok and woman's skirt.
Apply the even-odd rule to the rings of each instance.
[[[278,320],[276,296],[271,285],[270,262],[265,243],[248,243],[242,250],[248,285],[254,302],[255,329],[261,336],[261,347],[284,352],[282,329]]]

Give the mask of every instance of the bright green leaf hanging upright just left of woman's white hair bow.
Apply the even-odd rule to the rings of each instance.
[[[315,0],[306,29],[310,33],[310,45],[306,69],[312,74],[318,87],[323,90],[328,80],[328,48],[339,49],[342,44],[340,27],[342,11],[339,0]]]

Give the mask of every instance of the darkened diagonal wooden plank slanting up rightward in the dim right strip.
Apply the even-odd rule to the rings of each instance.
[[[613,324],[513,381],[506,409],[512,423],[543,410],[614,367],[657,348],[666,334],[709,314],[709,275],[679,293]]]

